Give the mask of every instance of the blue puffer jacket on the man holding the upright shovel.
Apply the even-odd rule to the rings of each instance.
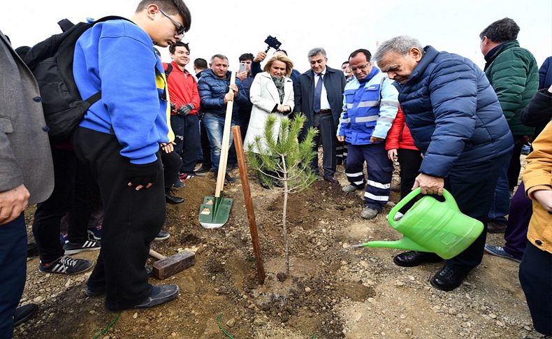
[[[198,80],[198,92],[201,99],[201,111],[203,113],[212,113],[224,117],[226,115],[226,103],[224,96],[228,93],[230,85],[230,72],[226,73],[226,78],[217,78],[212,70],[205,69],[201,72],[201,78]],[[232,117],[235,119],[240,105],[247,105],[249,101],[245,96],[240,79],[235,78],[235,85],[238,86],[238,95],[234,97],[234,106]]]

